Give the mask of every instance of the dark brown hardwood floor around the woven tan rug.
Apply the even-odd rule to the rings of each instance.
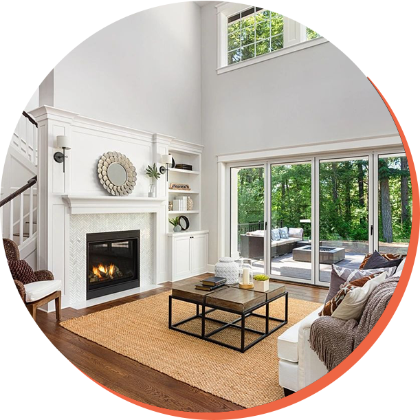
[[[194,282],[207,276],[210,276],[210,274],[183,281]],[[67,320],[87,315],[88,313],[102,311],[103,309],[160,294],[169,291],[171,288],[172,283],[164,283],[160,289],[146,291],[142,294],[114,300],[96,307],[80,310],[63,309],[61,319]],[[327,296],[327,289],[306,285],[288,284],[287,290],[291,298],[310,300],[312,302],[322,303],[325,296]],[[184,382],[179,382],[163,373],[159,373],[152,368],[148,368],[67,331],[56,323],[54,313],[38,311],[37,323],[43,333],[47,335],[49,341],[70,362],[100,382],[100,384],[126,397],[152,406],[188,412],[225,412],[243,409],[230,401],[205,393],[202,390],[184,384]],[[276,355],[273,355],[273,357],[276,357]]]

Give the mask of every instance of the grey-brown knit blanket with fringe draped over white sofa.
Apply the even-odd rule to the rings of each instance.
[[[338,366],[371,332],[384,313],[399,277],[390,277],[369,296],[360,322],[320,316],[312,323],[309,344],[328,371]]]

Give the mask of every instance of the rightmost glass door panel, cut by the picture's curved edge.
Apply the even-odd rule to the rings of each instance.
[[[412,190],[405,154],[378,158],[379,252],[407,254],[412,222]]]

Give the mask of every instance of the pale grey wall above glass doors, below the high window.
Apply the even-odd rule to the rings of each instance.
[[[342,47],[318,45],[217,75],[217,14],[202,8],[203,226],[217,261],[217,155],[397,133]]]

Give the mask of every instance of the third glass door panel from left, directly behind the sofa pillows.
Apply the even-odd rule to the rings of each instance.
[[[319,283],[331,265],[357,269],[369,252],[368,158],[319,164]]]

